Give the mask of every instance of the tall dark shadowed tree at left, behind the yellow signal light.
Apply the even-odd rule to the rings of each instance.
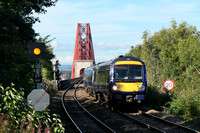
[[[32,25],[39,19],[33,13],[45,13],[45,8],[55,3],[56,0],[0,1],[0,84],[4,87],[13,82],[28,93],[34,86],[28,44],[36,40]]]

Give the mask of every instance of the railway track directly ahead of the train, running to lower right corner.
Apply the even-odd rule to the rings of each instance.
[[[161,119],[151,114],[147,114],[141,110],[138,111],[137,115],[132,113],[122,113],[117,111],[120,115],[127,117],[130,120],[136,121],[142,126],[152,129],[156,132],[161,133],[200,133],[199,131],[193,130],[188,127],[173,123],[171,121]]]

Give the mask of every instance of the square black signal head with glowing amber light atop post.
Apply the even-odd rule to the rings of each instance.
[[[45,59],[45,43],[30,43],[28,49],[31,60]]]

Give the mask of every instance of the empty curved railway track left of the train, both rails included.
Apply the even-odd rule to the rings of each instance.
[[[68,86],[61,98],[62,106],[68,117],[77,128],[77,131],[115,133],[114,130],[93,116],[78,102],[75,94],[76,88],[79,85],[76,85],[75,88],[73,87],[77,82],[81,81],[74,81],[70,86]]]

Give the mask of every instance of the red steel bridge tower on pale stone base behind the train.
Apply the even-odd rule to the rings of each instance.
[[[71,78],[83,76],[86,67],[95,64],[89,23],[78,23]]]

